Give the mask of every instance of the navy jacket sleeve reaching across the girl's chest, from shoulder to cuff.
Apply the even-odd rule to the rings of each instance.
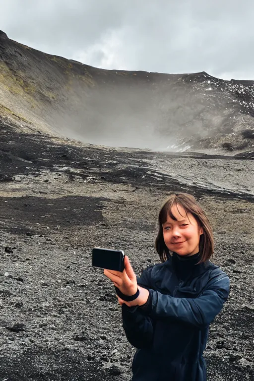
[[[229,296],[229,277],[221,272],[214,276],[197,298],[174,298],[149,289],[146,305],[141,309],[151,318],[167,318],[170,321],[183,321],[202,328],[222,310]]]

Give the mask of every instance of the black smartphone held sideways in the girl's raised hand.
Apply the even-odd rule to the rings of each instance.
[[[94,248],[92,250],[92,266],[107,270],[124,271],[125,253],[123,250]]]

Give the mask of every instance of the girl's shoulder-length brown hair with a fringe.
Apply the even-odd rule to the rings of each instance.
[[[182,192],[170,194],[170,196],[164,201],[159,211],[159,232],[155,240],[155,249],[160,256],[161,262],[165,262],[170,256],[169,249],[164,242],[162,224],[167,221],[168,215],[174,221],[177,221],[176,217],[171,212],[173,205],[181,205],[185,209],[186,214],[191,213],[197,221],[198,226],[203,228],[203,234],[200,235],[199,240],[199,253],[201,258],[198,263],[205,262],[212,257],[214,250],[214,239],[211,224],[204,214],[204,211],[197,203],[195,197],[191,194]]]

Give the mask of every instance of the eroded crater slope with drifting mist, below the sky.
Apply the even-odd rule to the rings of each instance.
[[[254,151],[253,81],[103,70],[42,53],[3,32],[0,113],[93,144]]]

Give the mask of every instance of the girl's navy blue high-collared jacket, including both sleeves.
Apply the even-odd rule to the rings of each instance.
[[[209,324],[229,295],[229,277],[199,254],[173,253],[144,270],[137,283],[149,291],[145,305],[122,306],[123,328],[137,348],[132,381],[206,381]]]

